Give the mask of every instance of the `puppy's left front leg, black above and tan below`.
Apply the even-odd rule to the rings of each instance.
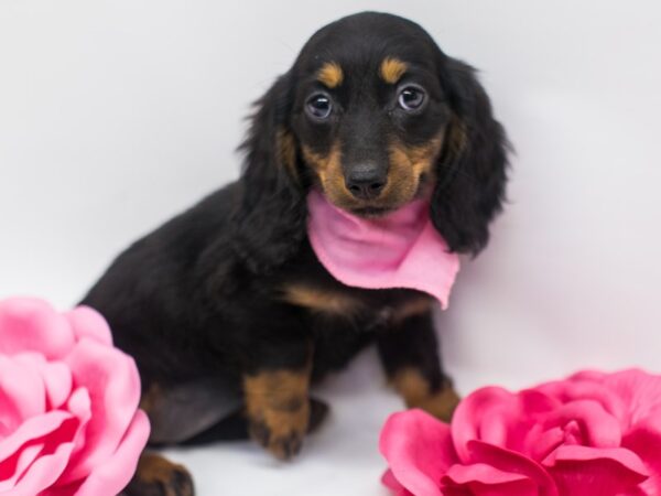
[[[310,422],[310,346],[275,346],[268,359],[243,375],[250,435],[280,460],[295,455]],[[266,358],[266,357],[264,357]]]

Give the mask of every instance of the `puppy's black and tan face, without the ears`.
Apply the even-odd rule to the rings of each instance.
[[[305,45],[291,129],[333,204],[379,216],[431,188],[451,118],[438,64],[431,37],[393,17],[347,18]]]

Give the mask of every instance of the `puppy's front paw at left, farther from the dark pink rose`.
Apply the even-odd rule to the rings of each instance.
[[[289,460],[301,451],[310,421],[310,402],[291,410],[266,409],[249,416],[250,435],[279,460]]]

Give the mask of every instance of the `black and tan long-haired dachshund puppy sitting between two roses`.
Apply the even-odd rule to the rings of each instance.
[[[372,342],[407,405],[448,418],[431,296],[335,280],[308,242],[306,195],[376,217],[427,192],[451,250],[477,254],[507,142],[474,69],[408,20],[340,19],[258,101],[242,150],[237,182],[133,244],[83,302],[136,358],[152,441],[251,435],[290,457],[325,412],[311,384]],[[145,455],[127,494],[192,486]]]

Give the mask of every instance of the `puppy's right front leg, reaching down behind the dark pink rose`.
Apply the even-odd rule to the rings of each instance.
[[[407,407],[449,421],[459,397],[441,368],[431,311],[407,316],[382,331],[378,347],[388,378]]]

